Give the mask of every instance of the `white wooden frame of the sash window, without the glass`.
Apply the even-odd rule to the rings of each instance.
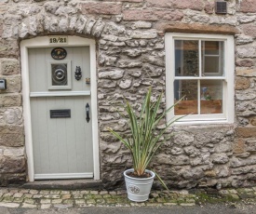
[[[174,80],[176,79],[195,79],[196,77],[175,77],[175,47],[174,40],[212,40],[223,41],[224,46],[224,67],[222,76],[203,76],[203,80],[222,79],[224,86],[222,91],[222,114],[189,114],[181,120],[175,122],[175,125],[190,125],[190,124],[232,124],[235,120],[235,43],[233,35],[222,34],[201,34],[201,33],[166,33],[165,48],[166,48],[166,102],[167,108],[174,104]],[[201,69],[201,58],[199,57],[199,67]],[[174,109],[167,114],[167,120],[177,118],[179,115],[174,115]]]

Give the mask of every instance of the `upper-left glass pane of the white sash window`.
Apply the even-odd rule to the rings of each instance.
[[[198,41],[175,40],[175,75],[198,76]]]

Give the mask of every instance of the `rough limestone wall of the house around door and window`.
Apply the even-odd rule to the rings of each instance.
[[[256,4],[226,0],[2,0],[0,1],[0,184],[26,181],[20,40],[75,34],[97,42],[101,181],[114,187],[130,166],[127,150],[107,131],[128,133],[115,111],[125,96],[139,111],[148,87],[165,91],[167,32],[233,34],[236,38],[236,123],[174,127],[152,167],[168,185],[247,186],[256,180]],[[168,47],[166,47],[168,48]],[[165,101],[163,100],[163,108]],[[230,106],[230,108],[234,108]],[[120,107],[119,111],[123,109]]]

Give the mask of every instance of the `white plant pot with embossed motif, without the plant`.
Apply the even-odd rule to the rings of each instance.
[[[139,179],[133,178],[127,175],[129,172],[133,172],[134,169],[130,168],[124,171],[126,187],[128,192],[128,199],[135,202],[142,202],[148,200],[148,196],[151,191],[151,187],[155,178],[155,173],[153,171],[147,170],[146,172],[150,173],[152,177]]]

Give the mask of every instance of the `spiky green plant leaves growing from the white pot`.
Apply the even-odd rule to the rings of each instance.
[[[143,175],[145,169],[148,167],[156,151],[159,149],[164,140],[161,137],[165,134],[168,127],[170,127],[178,119],[168,121],[166,127],[159,130],[161,119],[163,119],[168,112],[174,108],[175,104],[169,107],[162,114],[157,114],[160,108],[163,93],[157,98],[155,102],[151,102],[152,88],[150,87],[141,107],[139,118],[136,116],[132,106],[126,100],[125,110],[128,113],[128,126],[131,131],[129,138],[122,138],[117,132],[109,128],[110,132],[128,148],[132,156],[132,163],[134,173],[138,176]],[[177,103],[176,103],[177,104]]]

